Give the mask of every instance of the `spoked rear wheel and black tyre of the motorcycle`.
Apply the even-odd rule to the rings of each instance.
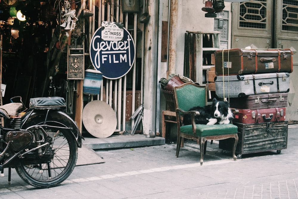
[[[47,122],[47,124],[58,125],[55,122]],[[52,137],[50,149],[54,152],[54,158],[49,163],[26,164],[15,168],[26,183],[38,188],[57,186],[66,180],[75,168],[78,154],[77,143],[70,132],[56,128],[45,130]],[[41,130],[39,131],[43,142],[43,134]]]

